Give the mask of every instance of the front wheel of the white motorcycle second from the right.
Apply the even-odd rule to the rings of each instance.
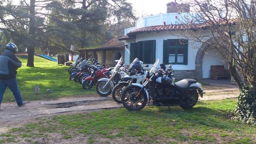
[[[112,90],[112,98],[115,102],[117,103],[122,103],[121,102],[121,94],[123,92],[123,89],[128,86],[129,84],[128,83],[120,83],[120,84],[117,84],[113,90]]]

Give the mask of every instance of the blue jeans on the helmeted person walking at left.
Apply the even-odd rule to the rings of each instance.
[[[7,87],[9,87],[9,89],[12,91],[17,105],[18,106],[22,105],[22,98],[21,98],[20,90],[18,88],[17,78],[0,79],[0,105],[2,103],[4,93]]]

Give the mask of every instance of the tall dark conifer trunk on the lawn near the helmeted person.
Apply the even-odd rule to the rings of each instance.
[[[29,35],[33,35],[36,33],[35,26],[35,2],[36,0],[30,0],[30,21],[29,21]],[[29,44],[28,46],[28,60],[27,66],[34,67],[34,44]]]

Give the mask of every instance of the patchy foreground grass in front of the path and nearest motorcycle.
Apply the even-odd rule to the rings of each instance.
[[[235,100],[201,101],[192,109],[146,106],[38,118],[0,134],[0,143],[254,144],[256,127],[225,117]]]

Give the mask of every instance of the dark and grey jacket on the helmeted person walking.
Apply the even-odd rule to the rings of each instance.
[[[21,65],[21,61],[10,50],[5,50],[0,55],[0,79],[16,78],[16,69]]]

